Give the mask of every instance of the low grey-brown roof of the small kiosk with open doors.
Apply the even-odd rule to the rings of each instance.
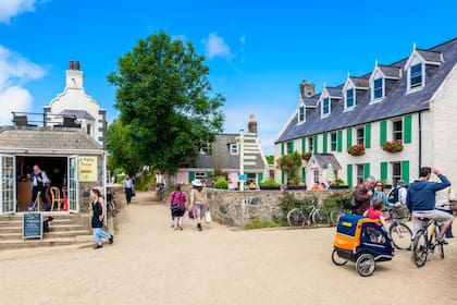
[[[0,148],[49,150],[103,150],[79,129],[1,127]]]

